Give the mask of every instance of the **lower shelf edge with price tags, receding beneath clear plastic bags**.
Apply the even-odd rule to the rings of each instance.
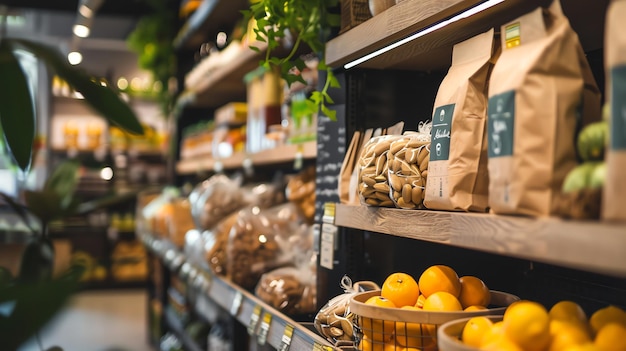
[[[305,324],[294,321],[247,290],[213,274],[210,270],[187,262],[183,254],[169,241],[156,239],[146,233],[143,233],[141,237],[146,247],[159,257],[170,270],[178,272],[179,277],[183,281],[190,282],[190,288],[196,289],[201,293],[195,309],[200,315],[207,314],[203,316],[205,319],[213,320],[215,311],[212,308],[202,308],[202,306],[216,304],[228,311],[239,323],[248,327],[251,332],[250,337],[253,340],[258,340],[259,335],[262,333],[261,325],[263,319],[266,315],[269,315],[271,320],[268,323],[266,344],[271,345],[275,349],[280,350],[287,326],[293,328],[293,335],[288,348],[291,351],[334,349],[328,341],[311,331]],[[208,303],[199,302],[202,299],[210,301]],[[255,310],[259,313],[259,321],[256,325],[252,325],[251,320]]]

